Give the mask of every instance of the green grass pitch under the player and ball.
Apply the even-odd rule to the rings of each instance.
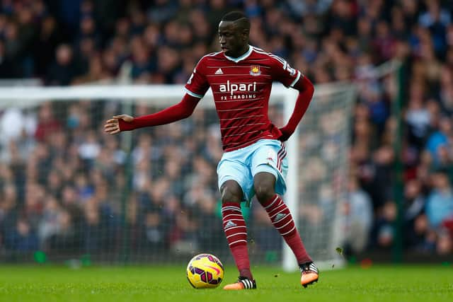
[[[235,267],[226,267],[217,289],[193,289],[178,267],[0,267],[0,301],[453,301],[453,267],[374,266],[321,272],[308,289],[299,274],[278,267],[253,267],[254,291],[223,291],[236,279]]]

